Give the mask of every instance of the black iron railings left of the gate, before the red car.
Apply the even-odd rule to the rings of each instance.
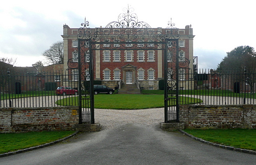
[[[78,105],[74,93],[78,88],[77,72],[43,71],[43,72],[0,72],[0,107],[56,107],[61,105]],[[58,86],[71,87],[56,94]],[[68,90],[68,91],[67,91]],[[70,94],[70,95],[69,95]],[[71,95],[72,94],[72,95]],[[63,98],[74,97],[73,99]]]

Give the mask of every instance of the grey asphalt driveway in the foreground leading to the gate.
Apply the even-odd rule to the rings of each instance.
[[[254,165],[256,155],[195,141],[158,126],[126,124],[0,157],[0,165]]]

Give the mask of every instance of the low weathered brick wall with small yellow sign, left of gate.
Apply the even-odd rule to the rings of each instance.
[[[0,108],[0,133],[73,130],[78,107]]]

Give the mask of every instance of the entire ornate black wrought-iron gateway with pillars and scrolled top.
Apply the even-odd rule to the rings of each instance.
[[[178,57],[180,35],[175,24],[168,22],[162,32],[151,28],[145,22],[138,22],[130,13],[118,16],[118,22],[110,22],[106,28],[89,28],[89,22],[82,23],[78,30],[78,81],[80,123],[94,123],[94,53],[96,50],[161,50],[164,54],[164,122],[178,122],[178,68],[184,59]],[[73,60],[69,67],[72,68]],[[173,105],[176,105],[175,107]]]

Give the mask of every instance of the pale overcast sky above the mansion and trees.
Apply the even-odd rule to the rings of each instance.
[[[63,24],[80,28],[84,18],[90,28],[118,20],[127,6],[138,21],[152,28],[192,25],[194,56],[198,67],[216,69],[238,46],[256,48],[254,0],[5,0],[0,4],[0,57],[17,58],[16,66],[45,61],[42,53],[61,41]]]

